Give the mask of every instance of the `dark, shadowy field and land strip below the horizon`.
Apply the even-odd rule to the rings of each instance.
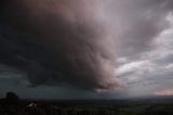
[[[173,115],[172,99],[31,101],[1,99],[0,115]]]

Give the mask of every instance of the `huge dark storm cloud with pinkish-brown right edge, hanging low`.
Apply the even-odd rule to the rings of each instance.
[[[6,1],[1,10],[1,63],[26,72],[34,86],[119,88],[98,1]]]

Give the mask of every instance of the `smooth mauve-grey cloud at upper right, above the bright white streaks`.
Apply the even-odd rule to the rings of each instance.
[[[165,17],[172,12],[172,3],[171,0],[112,1],[109,14],[118,35],[118,54],[129,56],[152,50],[155,38],[169,28]]]

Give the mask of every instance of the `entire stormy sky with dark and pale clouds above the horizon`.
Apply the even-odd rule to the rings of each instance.
[[[173,94],[172,0],[2,0],[0,97]]]

